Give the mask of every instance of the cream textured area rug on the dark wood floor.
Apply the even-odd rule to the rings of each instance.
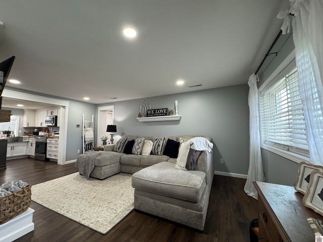
[[[134,208],[131,174],[104,180],[78,172],[31,187],[31,200],[105,234]]]

